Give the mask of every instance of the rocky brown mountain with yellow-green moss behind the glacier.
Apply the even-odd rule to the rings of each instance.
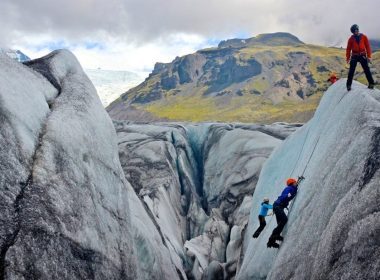
[[[379,58],[374,54],[377,79]],[[113,119],[136,121],[305,122],[330,73],[347,71],[344,49],[305,44],[288,33],[262,34],[157,63],[107,111]],[[365,77],[359,71],[356,79]]]

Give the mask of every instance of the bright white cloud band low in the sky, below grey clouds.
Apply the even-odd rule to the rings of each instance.
[[[215,40],[186,33],[168,35],[137,46],[113,38],[102,43],[81,41],[71,44],[67,41],[54,41],[50,36],[28,35],[23,37],[21,44],[14,45],[13,48],[21,50],[31,58],[44,56],[53,49],[66,48],[75,54],[85,68],[128,70],[146,76],[156,62],[170,62],[176,56],[215,44]]]

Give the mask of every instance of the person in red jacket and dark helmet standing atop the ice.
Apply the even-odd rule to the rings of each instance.
[[[362,65],[365,76],[368,80],[368,88],[373,89],[375,81],[373,80],[368,63],[371,63],[371,46],[366,35],[359,33],[359,26],[351,26],[352,36],[348,39],[346,49],[346,61],[350,64],[350,70],[347,78],[347,90],[351,90],[352,80],[354,78],[356,65],[358,62]]]

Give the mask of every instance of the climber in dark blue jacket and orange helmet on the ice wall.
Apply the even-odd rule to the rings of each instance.
[[[280,245],[276,241],[282,241],[283,237],[281,232],[288,222],[288,217],[285,214],[285,208],[288,207],[289,202],[297,195],[298,182],[294,178],[289,178],[286,181],[287,187],[282,191],[281,195],[273,203],[273,212],[276,215],[277,227],[273,230],[272,235],[269,237],[267,247],[279,248]]]

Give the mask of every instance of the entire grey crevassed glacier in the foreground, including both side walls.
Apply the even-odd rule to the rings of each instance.
[[[0,53],[0,100],[3,279],[378,279],[379,90],[342,79],[303,126],[112,122],[60,50]]]

